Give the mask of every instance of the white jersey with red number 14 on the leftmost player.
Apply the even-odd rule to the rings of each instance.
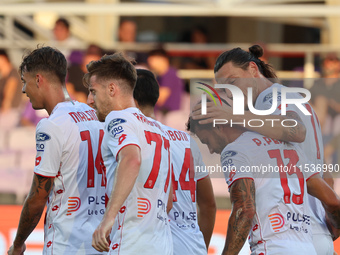
[[[56,105],[37,125],[34,172],[55,177],[45,217],[44,254],[98,254],[92,234],[105,210],[104,126],[76,101]]]

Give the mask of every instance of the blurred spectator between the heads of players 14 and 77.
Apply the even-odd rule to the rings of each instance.
[[[67,91],[71,98],[86,103],[88,89],[83,85],[83,76],[87,73],[86,65],[97,61],[104,55],[104,51],[97,45],[91,44],[83,56],[80,64],[73,64],[68,68]]]

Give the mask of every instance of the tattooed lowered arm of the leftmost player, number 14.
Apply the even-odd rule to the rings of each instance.
[[[37,226],[51,192],[54,178],[34,174],[30,193],[21,211],[18,232],[8,254],[23,254],[25,241]]]

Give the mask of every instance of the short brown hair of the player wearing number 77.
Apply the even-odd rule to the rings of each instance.
[[[88,73],[83,78],[85,87],[89,87],[90,78],[96,75],[99,80],[123,80],[131,91],[135,88],[137,81],[136,69],[121,52],[104,55],[98,61],[91,61],[86,65],[86,68]]]

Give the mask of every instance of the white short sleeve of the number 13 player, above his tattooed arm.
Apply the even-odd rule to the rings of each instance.
[[[254,179],[253,173],[247,171],[250,166],[247,158],[240,152],[224,149],[221,153],[221,167],[230,188],[238,179]]]

